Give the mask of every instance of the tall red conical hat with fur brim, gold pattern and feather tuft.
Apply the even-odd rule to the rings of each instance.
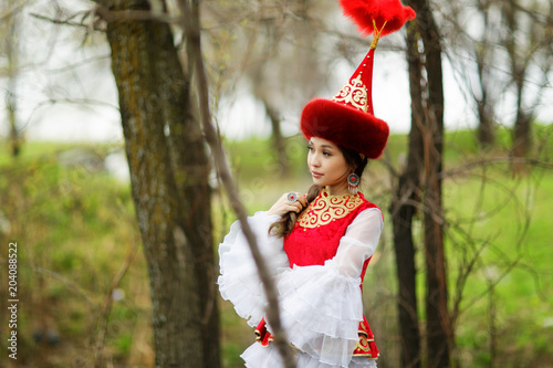
[[[371,49],[346,85],[331,99],[313,99],[302,112],[303,135],[321,137],[353,149],[367,158],[378,158],[388,140],[388,125],[374,116],[373,64],[378,39],[415,19],[415,11],[399,0],[340,0],[346,15],[363,34],[373,33]]]

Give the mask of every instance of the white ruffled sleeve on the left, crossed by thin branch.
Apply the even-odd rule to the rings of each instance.
[[[267,212],[257,212],[248,218],[273,276],[285,270],[283,267],[289,269],[282,238],[268,233],[271,223],[279,219],[279,215],[268,215]],[[219,245],[219,266],[221,275],[217,283],[221,296],[234,305],[238,315],[247,319],[250,326],[257,326],[265,313],[267,299],[240,221],[230,227],[230,232]]]

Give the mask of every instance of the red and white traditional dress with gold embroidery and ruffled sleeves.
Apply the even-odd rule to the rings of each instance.
[[[268,234],[279,218],[258,212],[248,221],[274,276],[298,367],[376,367],[378,349],[363,315],[362,283],[383,229],[380,210],[361,192],[330,196],[323,189],[284,239]],[[271,326],[263,318],[262,284],[239,222],[219,255],[221,295],[255,327],[258,343],[242,354],[246,366],[279,367]]]

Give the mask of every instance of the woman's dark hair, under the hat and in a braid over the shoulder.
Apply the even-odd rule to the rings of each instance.
[[[357,174],[361,178],[363,176],[365,167],[367,166],[368,162],[367,158],[362,157],[358,153],[356,153],[353,149],[345,148],[342,146],[338,146],[338,148],[344,155],[346,164],[349,165],[351,167],[354,167],[355,168],[354,172]],[[315,198],[321,192],[321,189],[322,188],[316,185],[310,187],[306,197],[307,206],[315,200]],[[295,221],[298,221],[299,215],[300,215],[299,213],[295,213],[293,211],[283,214],[279,221],[272,223],[269,227],[269,233],[275,235],[276,238],[288,236],[292,232],[292,229],[294,229],[294,224]]]

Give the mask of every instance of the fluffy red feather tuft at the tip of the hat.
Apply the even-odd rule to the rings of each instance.
[[[405,22],[415,19],[416,13],[399,0],[340,0],[344,14],[357,24],[362,34],[380,32],[380,36],[394,33]]]

